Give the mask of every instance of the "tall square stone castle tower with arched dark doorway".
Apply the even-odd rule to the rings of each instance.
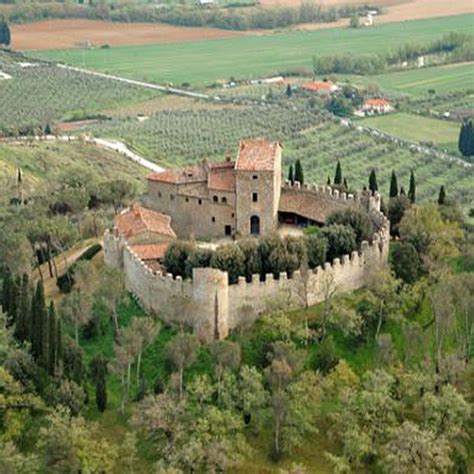
[[[281,145],[241,140],[235,163],[236,227],[240,235],[264,235],[278,225]]]

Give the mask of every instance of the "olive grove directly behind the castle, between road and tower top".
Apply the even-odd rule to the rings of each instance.
[[[283,140],[322,120],[305,102],[269,103],[208,109],[164,110],[147,120],[136,117],[104,121],[85,128],[96,136],[126,141],[138,153],[165,166],[234,153],[241,138]]]

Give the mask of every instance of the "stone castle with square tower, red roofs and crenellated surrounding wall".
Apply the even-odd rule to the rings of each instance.
[[[242,140],[237,158],[153,173],[146,193],[115,220],[104,236],[105,262],[124,269],[127,288],[149,311],[164,313],[177,298],[192,306],[191,324],[203,340],[226,337],[284,297],[290,307],[316,304],[327,286],[346,292],[367,284],[387,262],[389,222],[376,193],[340,193],[330,186],[281,182],[282,147],[263,139]],[[177,237],[212,240],[265,235],[279,223],[323,225],[329,214],[349,206],[369,213],[375,226],[371,242],[358,252],[292,278],[286,274],[230,285],[227,273],[193,269],[192,280],[163,273],[160,259]]]

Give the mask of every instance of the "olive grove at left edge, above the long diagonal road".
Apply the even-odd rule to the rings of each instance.
[[[46,124],[87,118],[105,108],[160,94],[138,86],[70,71],[22,56],[0,53],[0,130],[44,129]]]

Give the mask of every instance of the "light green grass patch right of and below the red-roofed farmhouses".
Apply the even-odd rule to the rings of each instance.
[[[453,144],[459,136],[459,124],[406,113],[379,115],[361,120],[364,125],[404,140]]]

